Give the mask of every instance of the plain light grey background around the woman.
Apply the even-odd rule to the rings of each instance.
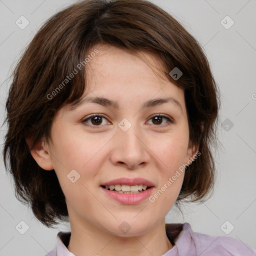
[[[0,121],[10,81],[6,79],[24,46],[41,24],[74,0],[0,0]],[[179,20],[203,47],[221,91],[215,154],[217,181],[213,196],[202,204],[189,204],[184,218],[174,207],[166,222],[189,222],[196,232],[235,237],[256,248],[256,1],[255,0],[153,0]],[[15,21],[25,16],[20,29]],[[221,20],[226,16],[230,19]],[[233,124],[230,125],[230,124]],[[232,126],[232,127],[231,127]],[[2,152],[3,135],[0,129]],[[0,255],[42,256],[56,245],[58,231],[44,227],[28,207],[14,196],[13,181],[0,160]],[[15,229],[20,221],[23,230]],[[229,221],[224,223],[225,221]],[[222,225],[224,223],[224,225]],[[232,231],[231,227],[234,226]],[[222,228],[221,228],[222,227]],[[18,229],[18,228],[17,228]],[[228,234],[226,234],[224,231]],[[252,255],[252,253],[251,253]]]

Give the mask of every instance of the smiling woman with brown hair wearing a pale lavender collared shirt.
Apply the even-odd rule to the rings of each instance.
[[[87,0],[52,16],[20,59],[4,161],[50,227],[47,255],[251,255],[231,237],[165,224],[215,179],[218,88],[197,41],[143,0]]]

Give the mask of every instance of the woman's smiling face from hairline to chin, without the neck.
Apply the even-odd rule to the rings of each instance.
[[[84,94],[97,103],[83,100],[72,110],[62,107],[45,147],[66,198],[70,223],[122,236],[130,228],[127,235],[139,235],[164,219],[182,185],[180,167],[197,151],[188,147],[184,92],[122,49],[97,49],[86,65]],[[141,56],[160,66],[156,57]],[[112,181],[119,178],[123,180]],[[132,189],[135,194],[102,187],[109,182],[116,190]],[[138,192],[146,183],[151,188]]]

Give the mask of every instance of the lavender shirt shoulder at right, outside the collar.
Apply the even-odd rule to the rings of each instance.
[[[239,239],[189,231],[201,256],[256,256],[256,250]]]

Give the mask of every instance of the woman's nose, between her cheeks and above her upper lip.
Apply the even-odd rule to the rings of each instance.
[[[135,124],[126,131],[118,127],[117,134],[113,137],[111,162],[128,169],[144,166],[150,159],[150,149],[146,146],[145,140],[145,134],[142,134]]]

